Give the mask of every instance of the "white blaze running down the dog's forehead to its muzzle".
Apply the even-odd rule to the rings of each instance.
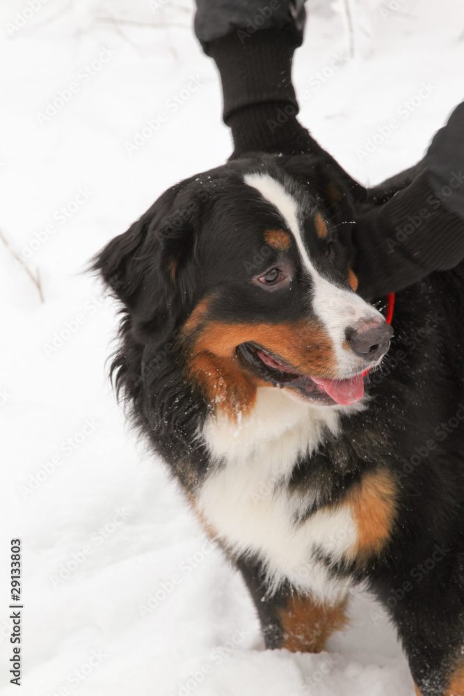
[[[246,174],[244,181],[259,191],[287,223],[294,236],[303,269],[312,280],[312,308],[333,342],[338,367],[343,373],[340,377],[351,377],[353,372],[360,371],[360,367],[359,361],[351,351],[342,347],[346,329],[360,322],[383,322],[383,316],[355,292],[335,285],[317,271],[304,244],[298,203],[280,182],[275,181],[269,174],[259,173]]]

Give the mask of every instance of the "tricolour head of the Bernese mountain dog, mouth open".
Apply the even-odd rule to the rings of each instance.
[[[392,330],[355,294],[349,198],[317,163],[260,157],[172,187],[97,257],[134,340],[237,413],[258,387],[353,404]],[[126,324],[127,326],[127,324]]]

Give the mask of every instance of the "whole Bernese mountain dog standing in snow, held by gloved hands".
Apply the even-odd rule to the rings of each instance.
[[[394,192],[321,152],[232,161],[168,189],[95,269],[122,302],[131,420],[243,574],[266,647],[321,651],[362,585],[417,694],[463,696],[464,265],[399,292],[393,335],[356,292],[351,228]]]

